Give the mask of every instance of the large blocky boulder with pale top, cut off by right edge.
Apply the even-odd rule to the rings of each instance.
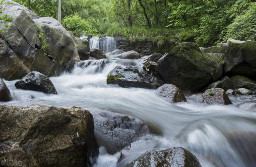
[[[256,42],[229,39],[223,46],[227,51],[225,72],[255,78]]]

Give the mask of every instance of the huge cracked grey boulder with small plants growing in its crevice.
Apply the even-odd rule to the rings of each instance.
[[[8,42],[8,46],[0,43],[6,50],[2,54],[8,55],[4,61],[9,66],[3,66],[0,76],[5,75],[7,80],[20,79],[30,71],[58,76],[74,67],[75,62],[79,61],[74,40],[57,20],[38,18],[12,0],[6,0],[6,3],[5,13],[12,18],[12,26],[2,33],[2,39]],[[0,23],[2,29],[4,24]],[[43,44],[43,40],[46,44]],[[42,49],[44,47],[45,50]]]

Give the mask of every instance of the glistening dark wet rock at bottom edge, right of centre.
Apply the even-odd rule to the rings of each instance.
[[[147,151],[126,167],[201,167],[197,158],[182,147]]]

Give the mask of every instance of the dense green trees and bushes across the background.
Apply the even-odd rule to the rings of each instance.
[[[58,0],[16,2],[39,16],[58,15]],[[62,19],[77,36],[169,38],[200,46],[256,40],[255,0],[62,0]]]

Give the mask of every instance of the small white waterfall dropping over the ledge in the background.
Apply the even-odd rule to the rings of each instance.
[[[116,41],[113,37],[92,37],[90,39],[90,48],[98,48],[106,54],[116,50]]]

